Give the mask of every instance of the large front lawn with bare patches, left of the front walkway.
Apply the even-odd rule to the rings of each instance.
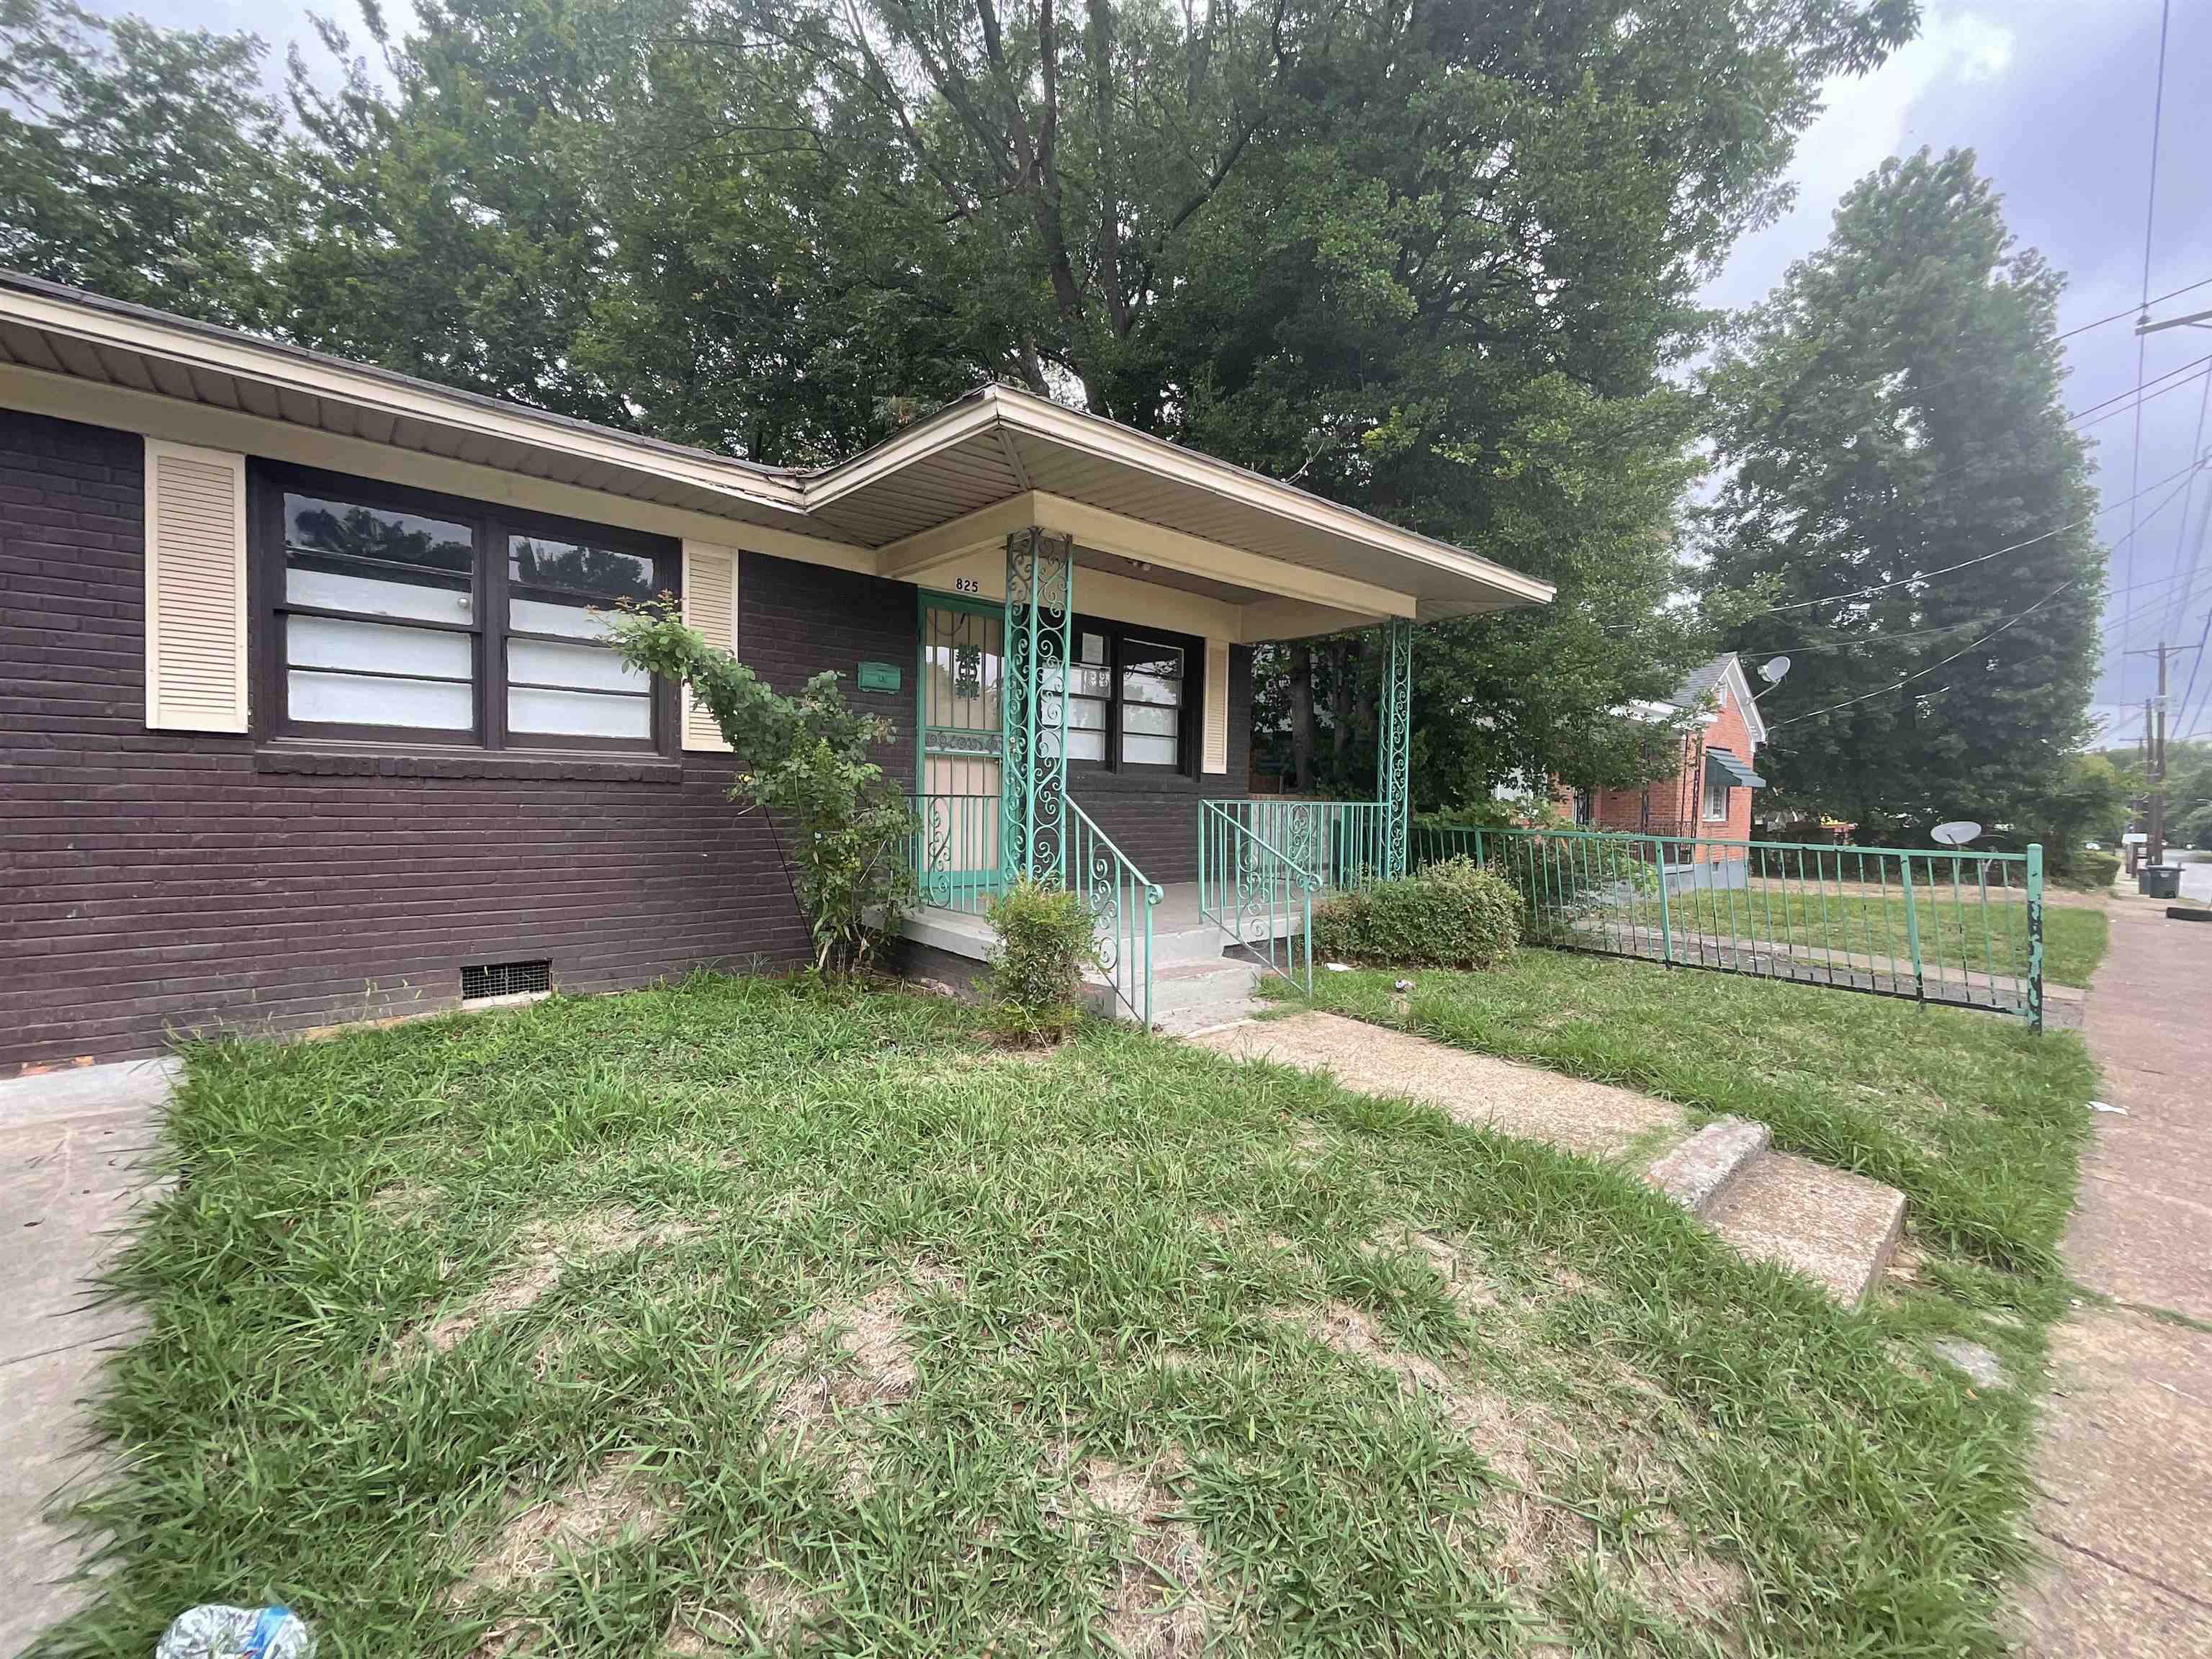
[[[1429,1108],[697,978],[199,1048],[170,1133],[42,1655],[1997,1650],[2011,1391]]]

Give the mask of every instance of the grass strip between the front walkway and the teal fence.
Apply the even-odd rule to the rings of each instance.
[[[2104,916],[2097,914],[2101,922]],[[1896,998],[1524,949],[1493,973],[1316,973],[1321,1006],[1759,1119],[1900,1188],[1962,1263],[2055,1274],[2095,1071],[2073,1033]]]

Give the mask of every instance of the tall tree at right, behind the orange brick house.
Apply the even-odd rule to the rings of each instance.
[[[1792,659],[1761,701],[1774,801],[1874,830],[2011,823],[2064,779],[2104,562],[2059,285],[1971,153],[1922,150],[1843,199],[1714,365],[1705,580],[1756,595],[1736,650]]]

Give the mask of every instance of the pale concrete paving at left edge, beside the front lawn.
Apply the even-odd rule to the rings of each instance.
[[[137,1062],[0,1082],[0,1655],[82,1599],[62,1584],[77,1555],[42,1511],[84,1471],[82,1402],[133,1332],[124,1310],[91,1305],[88,1276],[148,1190],[168,1077],[168,1062]]]

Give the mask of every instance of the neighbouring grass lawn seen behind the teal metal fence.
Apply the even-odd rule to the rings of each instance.
[[[1639,920],[1657,927],[1657,898],[1639,900]],[[1648,911],[1648,916],[1646,916]],[[1807,883],[1752,880],[1741,891],[1688,891],[1668,896],[1668,922],[1677,929],[1721,938],[1767,940],[1818,951],[1911,960],[1911,929],[1902,891],[1854,887],[1820,891]],[[2024,902],[1995,894],[1984,911],[1971,887],[1938,885],[1920,891],[1913,918],[1920,956],[1929,971],[2008,973],[2026,969],[2028,914]],[[2090,905],[2044,905],[2044,978],[2053,984],[2088,984],[2104,960],[2108,936],[2104,909]]]

